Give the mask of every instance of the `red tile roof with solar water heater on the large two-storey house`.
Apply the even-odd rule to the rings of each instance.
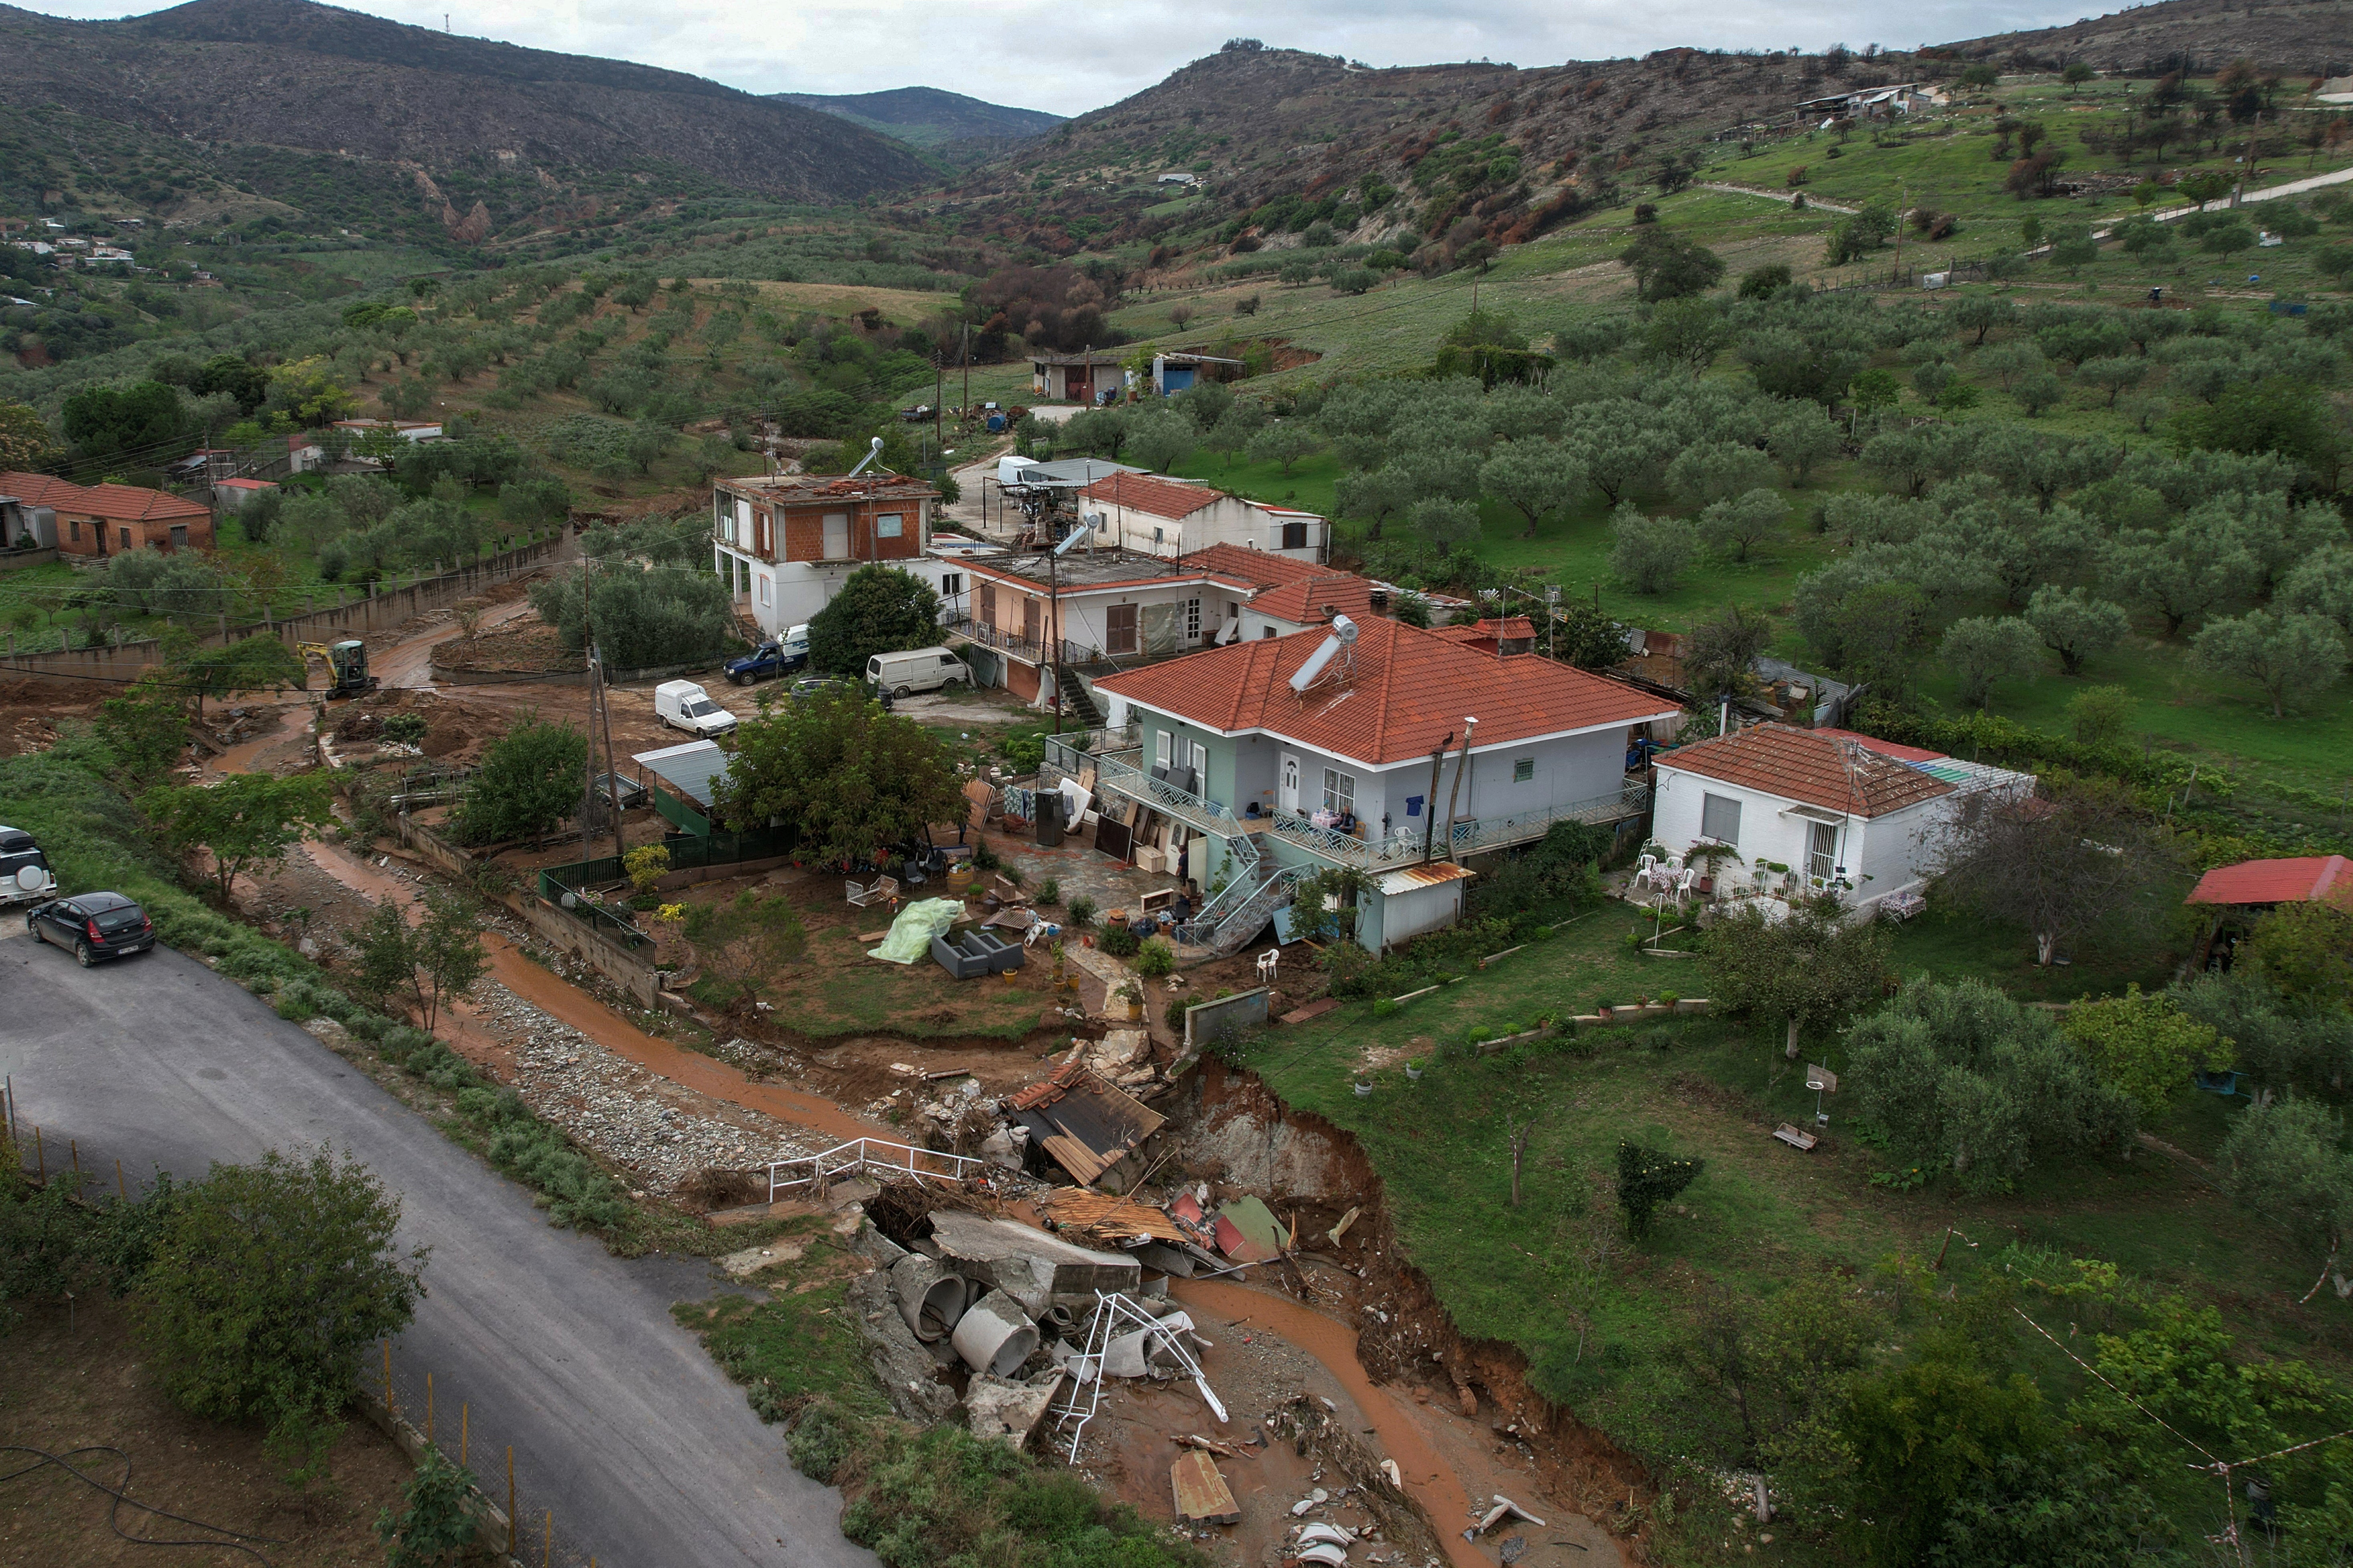
[[[1332,661],[1306,696],[1292,675],[1325,642],[1322,628],[1202,649],[1125,670],[1096,689],[1226,733],[1264,729],[1374,766],[1428,757],[1464,717],[1478,745],[1664,719],[1671,703],[1548,658],[1482,658],[1398,621],[1358,623],[1355,668]]]

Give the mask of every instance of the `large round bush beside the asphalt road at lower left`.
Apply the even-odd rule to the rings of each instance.
[[[174,1192],[132,1293],[148,1371],[193,1415],[325,1455],[360,1354],[424,1295],[426,1248],[400,1255],[398,1225],[400,1199],[329,1150],[212,1166]]]

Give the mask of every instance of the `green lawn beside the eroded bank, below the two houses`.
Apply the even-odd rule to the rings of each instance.
[[[1704,1293],[1758,1298],[1821,1272],[1868,1274],[1894,1253],[1934,1258],[1948,1225],[1960,1244],[1944,1276],[1962,1288],[1998,1274],[2012,1241],[2106,1258],[2155,1288],[2219,1302],[2242,1347],[2315,1359],[2327,1375],[2346,1378],[2341,1340],[2320,1331],[2327,1314],[2280,1305],[2311,1284],[2311,1260],[2198,1171],[2146,1150],[2129,1161],[2038,1171],[1998,1199],[1941,1185],[1901,1192],[1871,1182],[1887,1161],[1854,1135],[1835,1095],[1821,1147],[1800,1154],[1772,1140],[1781,1121],[1812,1126],[1814,1095],[1802,1063],[1784,1060],[1777,1039],[1732,1020],[1612,1025],[1485,1058],[1461,1046],[1442,1051],[1475,1025],[1581,1011],[1600,994],[1624,1004],[1635,987],[1692,994],[1704,985],[1699,964],[1628,954],[1624,931],[1633,924],[1633,910],[1609,905],[1388,1018],[1348,1004],[1245,1051],[1287,1107],[1334,1121],[1365,1147],[1402,1246],[1459,1328],[1515,1345],[1537,1387],[1581,1420],[1638,1453],[1657,1453],[1675,1422],[1661,1389],[1678,1382],[1675,1345]],[[2073,997],[2085,983],[2120,990],[2127,978],[2148,983],[2165,971],[2162,954],[2139,954],[2021,985],[2021,957],[2017,933],[1934,914],[1904,929],[1897,945],[1906,973],[1984,973],[2024,997]],[[1417,1053],[1428,1070],[1421,1081],[1398,1067],[1369,1072],[1374,1091],[1360,1098],[1351,1084],[1369,1053]],[[1805,1056],[1845,1067],[1835,1039],[1809,1039]],[[2231,1114],[2224,1100],[2191,1095],[2153,1131],[2202,1159]],[[1529,1143],[1513,1208],[1511,1135],[1522,1121]],[[1621,1138],[1708,1161],[1678,1208],[1635,1246],[1617,1239],[1607,1197]],[[2066,1335],[2064,1314],[2042,1316]],[[1986,1354],[2005,1352],[1988,1342]],[[2019,1352],[2019,1363],[2054,1401],[2080,1387],[2057,1356]],[[2202,1526],[2214,1500],[2184,1488],[2167,1502],[2186,1526]],[[1727,1561],[1711,1523],[1725,1519],[1694,1516],[1668,1533],[1664,1561]],[[1784,1535],[1755,1559],[1819,1561],[1817,1549]],[[1741,1554],[1734,1540],[1732,1556]]]

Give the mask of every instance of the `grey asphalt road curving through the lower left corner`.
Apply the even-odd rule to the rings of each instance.
[[[492,1495],[513,1443],[532,1547],[553,1509],[558,1561],[875,1568],[840,1535],[840,1495],[791,1467],[781,1432],[671,1321],[673,1300],[715,1293],[708,1262],[624,1262],[551,1227],[529,1192],[195,959],[80,969],[0,912],[0,1072],[52,1168],[73,1140],[106,1185],[115,1159],[134,1182],[318,1143],[365,1161],[400,1197],[402,1251],[433,1248],[393,1347],[402,1403],[424,1425],[431,1371],[447,1450],[468,1408]]]

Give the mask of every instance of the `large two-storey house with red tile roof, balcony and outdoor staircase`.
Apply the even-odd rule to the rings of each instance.
[[[1111,729],[1049,748],[1049,766],[1134,806],[1134,842],[1202,886],[1200,924],[1264,924],[1304,875],[1348,865],[1372,875],[1372,950],[1459,914],[1464,877],[1438,863],[1558,820],[1638,820],[1631,741],[1675,715],[1605,675],[1381,616],[1122,670],[1094,693]]]

